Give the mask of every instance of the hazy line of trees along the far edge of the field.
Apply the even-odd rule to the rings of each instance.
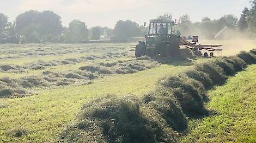
[[[240,18],[234,15],[224,15],[219,19],[204,17],[201,22],[193,23],[188,15],[182,15],[176,29],[179,29],[182,35],[201,35],[208,39],[213,39],[224,27],[256,36],[256,0],[251,3],[252,8],[245,8]],[[166,13],[157,18],[173,19],[173,16]],[[53,11],[26,11],[18,15],[14,22],[9,22],[7,15],[0,14],[0,43],[80,43],[84,40],[100,39],[126,41],[131,37],[145,36],[147,31],[148,27],[130,20],[118,21],[114,29],[88,29],[86,23],[78,19],[64,27],[61,17]]]

